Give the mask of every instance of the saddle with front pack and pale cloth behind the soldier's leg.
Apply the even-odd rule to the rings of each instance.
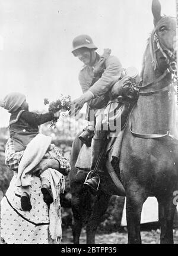
[[[117,85],[116,85],[117,84]],[[106,152],[113,147],[116,138],[119,137],[119,148],[116,146],[117,152],[120,151],[122,145],[123,132],[121,131],[125,128],[128,121],[129,113],[132,110],[135,102],[138,100],[139,93],[138,90],[132,85],[132,81],[128,77],[124,77],[115,84],[117,86],[117,98],[110,101],[104,111],[103,126],[106,130],[109,130],[107,138],[109,143],[107,145]],[[104,129],[104,130],[105,130]],[[90,136],[90,139],[92,137]],[[90,143],[88,144],[90,146]],[[80,169],[88,168],[90,169],[91,164],[91,148],[85,144],[82,146],[80,154],[78,155],[77,163],[75,167]],[[105,154],[106,154],[105,152]]]

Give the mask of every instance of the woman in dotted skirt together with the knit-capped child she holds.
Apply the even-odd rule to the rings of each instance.
[[[5,243],[60,243],[59,195],[70,165],[38,129],[59,112],[31,113],[21,93],[9,93],[1,107],[11,113],[5,163],[14,171],[1,201],[1,237]]]

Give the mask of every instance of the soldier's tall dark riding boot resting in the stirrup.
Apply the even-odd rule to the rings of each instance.
[[[106,140],[103,139],[93,139],[91,142],[91,171],[88,173],[85,179],[84,186],[88,188],[90,186],[93,191],[98,191],[98,186],[100,184],[100,176],[96,173],[101,163],[101,151],[106,145]],[[98,160],[100,158],[100,160]],[[96,169],[97,164],[97,169]]]

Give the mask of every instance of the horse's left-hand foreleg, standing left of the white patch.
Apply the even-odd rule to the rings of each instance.
[[[128,227],[128,243],[141,243],[140,221],[145,192],[139,186],[132,186],[126,191],[126,220]]]

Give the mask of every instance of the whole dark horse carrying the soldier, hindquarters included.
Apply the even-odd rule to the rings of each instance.
[[[178,136],[171,80],[176,71],[176,22],[172,17],[161,17],[160,13],[160,2],[153,0],[155,29],[145,50],[142,85],[138,88],[140,96],[125,126],[116,170],[126,191],[128,243],[141,243],[141,211],[148,196],[155,196],[158,200],[161,243],[173,243],[172,227],[176,210],[173,193],[177,189],[178,176],[178,147],[174,137]],[[71,152],[72,232],[74,243],[80,243],[82,223],[85,223],[87,243],[94,243],[98,223],[111,196],[120,196],[120,193],[108,172],[112,168],[112,151],[105,162],[104,176],[103,172],[99,173],[101,183],[98,195],[94,196],[83,188],[89,170],[75,168],[81,146],[77,135]]]

